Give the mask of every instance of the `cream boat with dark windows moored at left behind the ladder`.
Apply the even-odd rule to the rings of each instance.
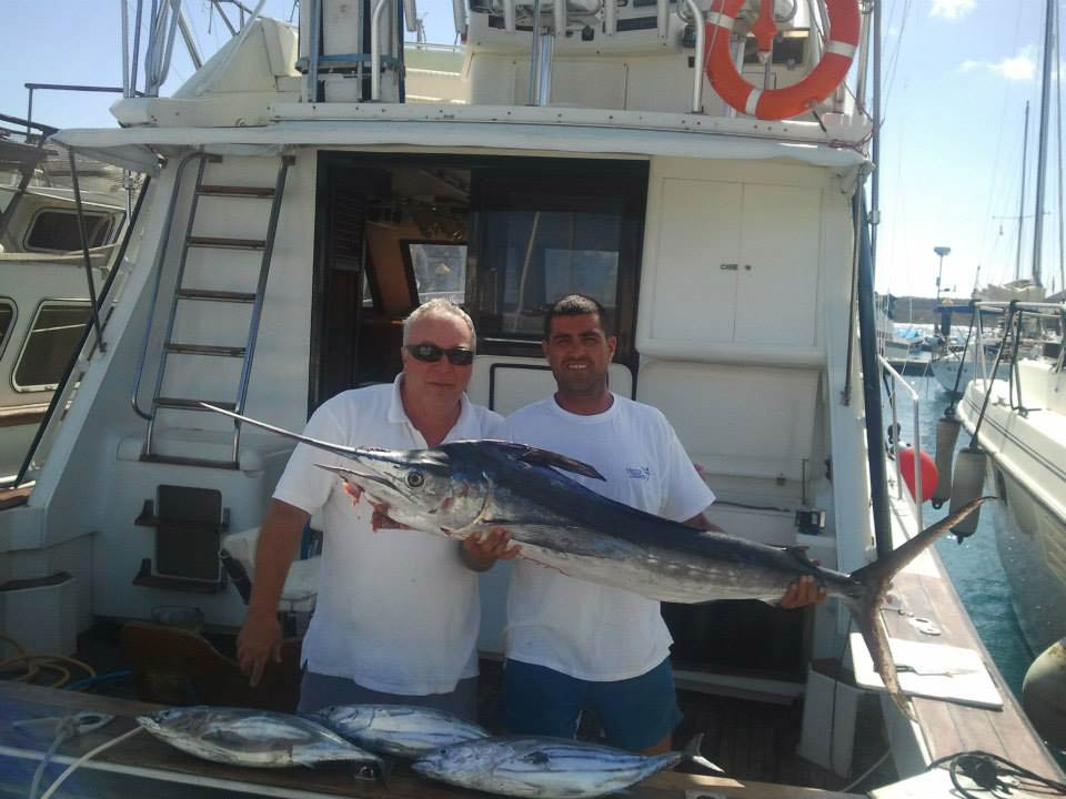
[[[67,149],[43,144],[54,132],[0,121],[0,487],[16,479],[90,316]],[[123,174],[81,156],[79,173],[99,292],[127,215]]]

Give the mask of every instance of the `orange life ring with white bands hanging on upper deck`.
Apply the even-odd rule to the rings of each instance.
[[[819,103],[841,84],[858,48],[857,0],[826,0],[832,23],[822,60],[806,78],[785,89],[756,89],[736,71],[730,52],[733,23],[744,0],[714,0],[707,17],[706,71],[711,85],[730,105],[748,117],[765,120],[798,117]]]

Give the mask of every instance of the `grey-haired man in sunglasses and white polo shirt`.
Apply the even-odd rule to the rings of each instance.
[[[343,392],[323,403],[304,434],[348,446],[423,449],[492,438],[499,414],[464,392],[474,326],[462,309],[432,300],[403,328],[403,371],[390,385]],[[474,719],[480,604],[476,572],[513,557],[494,533],[462,545],[395,525],[315,464],[344,458],[299,444],[259,534],[238,660],[251,684],[280,660],[278,601],[304,525],[322,512],[322,570],[303,639],[302,712],[334,704],[403,702]],[[349,464],[350,465],[350,464]],[[378,532],[379,526],[390,529]]]

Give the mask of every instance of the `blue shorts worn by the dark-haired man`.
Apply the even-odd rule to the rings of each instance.
[[[681,724],[670,659],[632,679],[595,682],[507,660],[500,721],[514,735],[573,738],[581,711],[596,712],[607,744],[647,749]]]

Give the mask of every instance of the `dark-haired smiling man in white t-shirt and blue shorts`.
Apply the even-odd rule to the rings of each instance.
[[[656,408],[607,390],[617,340],[604,312],[582,295],[545,317],[543,350],[554,396],[516,411],[504,438],[594,466],[605,481],[567,475],[592,490],[702,529],[714,494]],[[809,577],[783,607],[824,599]],[[621,588],[567,577],[520,559],[507,596],[501,719],[519,735],[573,737],[581,711],[596,711],[607,742],[657,752],[681,721],[670,668],[670,631],[660,604]]]

